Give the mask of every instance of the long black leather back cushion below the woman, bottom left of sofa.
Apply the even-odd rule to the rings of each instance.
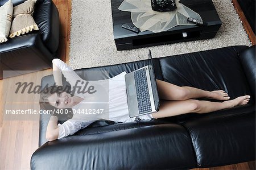
[[[31,161],[32,169],[189,169],[195,166],[188,132],[172,123],[67,136],[44,144]]]

